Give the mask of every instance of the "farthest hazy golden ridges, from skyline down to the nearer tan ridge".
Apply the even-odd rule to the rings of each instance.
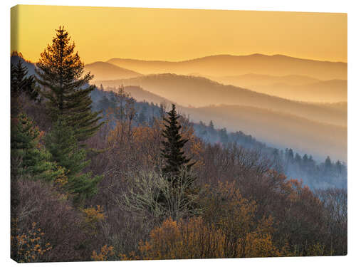
[[[108,63],[143,74],[201,76],[292,100],[347,101],[347,63],[342,62],[253,54],[207,56],[180,62],[112,58]]]

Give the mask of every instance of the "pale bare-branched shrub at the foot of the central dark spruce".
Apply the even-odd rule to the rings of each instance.
[[[172,179],[157,172],[131,172],[127,174],[127,192],[117,199],[117,204],[146,219],[161,221],[198,214],[199,208],[194,207],[197,191],[192,189],[193,177],[192,171],[187,169]]]

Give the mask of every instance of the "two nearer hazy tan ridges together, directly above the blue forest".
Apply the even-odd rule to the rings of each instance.
[[[16,60],[18,57],[11,58],[11,62]],[[30,71],[34,69],[28,64]],[[96,80],[95,84],[105,88],[127,85],[127,92],[138,101],[177,103],[179,112],[195,122],[214,120],[216,127],[247,132],[274,147],[298,148],[301,154],[311,154],[319,160],[330,155],[347,161],[347,103],[296,102],[187,75],[137,75]]]

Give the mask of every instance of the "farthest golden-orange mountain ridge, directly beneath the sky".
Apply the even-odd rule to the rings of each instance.
[[[108,63],[142,74],[176,73],[189,75],[199,73],[205,77],[225,77],[256,73],[275,76],[303,75],[320,80],[347,80],[347,63],[313,61],[283,55],[218,55],[178,62],[112,58]]]

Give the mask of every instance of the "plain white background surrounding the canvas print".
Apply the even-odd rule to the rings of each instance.
[[[298,258],[238,258],[221,260],[180,260],[180,261],[120,261],[120,262],[85,262],[85,263],[31,263],[31,266],[355,266],[355,148],[354,115],[355,108],[355,6],[349,0],[245,0],[245,1],[211,1],[211,0],[174,0],[174,1],[110,1],[110,0],[47,0],[47,1],[12,1],[1,0],[1,147],[0,147],[0,262],[1,266],[15,266],[17,263],[10,259],[10,8],[16,4],[51,4],[67,6],[127,6],[127,7],[157,7],[181,9],[235,9],[261,11],[314,11],[347,13],[348,28],[348,255],[333,257],[298,257]],[[46,21],[43,21],[46,23]],[[283,23],[283,21],[281,21]],[[325,132],[327,135],[328,133]],[[352,263],[355,261],[354,263]]]

